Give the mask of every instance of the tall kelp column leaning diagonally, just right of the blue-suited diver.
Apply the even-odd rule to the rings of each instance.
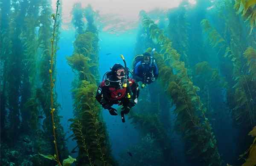
[[[161,53],[163,53],[154,53],[160,71],[159,77],[161,80],[168,80],[167,82],[162,82],[162,84],[167,87],[166,93],[176,105],[176,128],[187,139],[189,155],[192,155],[191,158],[198,158],[198,160],[203,158],[207,164],[212,166],[221,165],[216,139],[212,132],[212,127],[205,117],[207,109],[196,93],[199,88],[193,85],[187,74],[184,62],[180,61],[180,54],[172,48],[172,42],[165,37],[163,31],[154,24],[154,21],[144,17],[143,26],[150,34],[152,41],[160,45]],[[218,40],[214,40],[214,42],[214,44],[219,43]],[[161,68],[165,68],[165,70]],[[169,70],[168,73],[175,74],[175,76],[164,75],[167,72],[166,70]],[[194,146],[191,146],[191,142]]]

